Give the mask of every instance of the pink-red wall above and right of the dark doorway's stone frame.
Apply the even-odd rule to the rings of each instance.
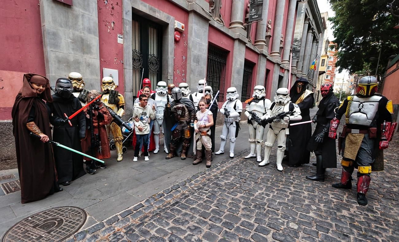
[[[174,42],[174,62],[173,62],[173,83],[178,85],[186,82],[187,73],[187,34],[190,26],[188,25],[188,12],[167,0],[143,0],[147,4],[165,12],[184,24],[184,31],[180,34],[180,41]]]

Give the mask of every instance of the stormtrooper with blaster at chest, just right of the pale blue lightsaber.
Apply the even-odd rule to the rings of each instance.
[[[237,93],[237,89],[235,87],[227,88],[227,101],[223,103],[222,108],[220,109],[220,113],[225,115],[225,122],[222,129],[222,135],[220,135],[220,149],[215,152],[215,155],[224,154],[224,148],[227,143],[227,135],[229,135],[230,139],[230,158],[234,158],[234,146],[236,140],[236,131],[237,125],[240,121],[240,115],[243,109],[243,104],[239,99],[239,94]],[[226,112],[227,111],[227,112]]]

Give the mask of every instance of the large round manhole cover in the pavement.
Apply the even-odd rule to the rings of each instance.
[[[50,208],[16,223],[2,241],[61,241],[79,230],[85,221],[86,212],[81,208]]]

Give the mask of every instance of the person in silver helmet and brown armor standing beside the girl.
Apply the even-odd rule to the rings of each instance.
[[[194,127],[194,117],[196,110],[194,103],[188,98],[182,98],[182,91],[179,87],[172,89],[172,98],[174,99],[170,103],[169,112],[174,117],[175,125],[168,132],[172,132],[171,140],[169,145],[169,154],[166,159],[170,159],[175,156],[178,145],[182,143],[182,153],[180,158],[186,159],[187,153],[190,150],[191,137]],[[183,142],[182,142],[183,141]]]

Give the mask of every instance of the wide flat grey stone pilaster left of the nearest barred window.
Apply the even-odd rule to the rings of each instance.
[[[192,89],[198,80],[205,79],[208,49],[208,22],[195,11],[188,14],[187,75],[186,82]],[[201,34],[198,34],[201,33]]]

